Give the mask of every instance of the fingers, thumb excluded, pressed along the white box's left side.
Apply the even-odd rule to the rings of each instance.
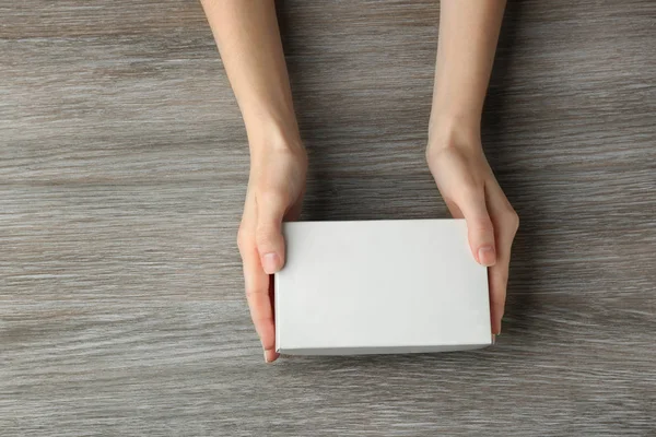
[[[270,276],[265,273],[254,238],[239,241],[239,252],[244,264],[246,299],[250,308],[250,318],[265,350],[265,361],[270,363],[278,357],[276,353],[276,326],[273,307],[269,293]]]

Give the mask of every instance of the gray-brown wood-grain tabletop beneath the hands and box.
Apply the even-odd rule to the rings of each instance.
[[[437,1],[284,1],[308,220],[446,216]],[[262,362],[248,156],[195,0],[0,3],[0,435],[656,435],[656,2],[512,1],[484,121],[522,217],[473,353]]]

